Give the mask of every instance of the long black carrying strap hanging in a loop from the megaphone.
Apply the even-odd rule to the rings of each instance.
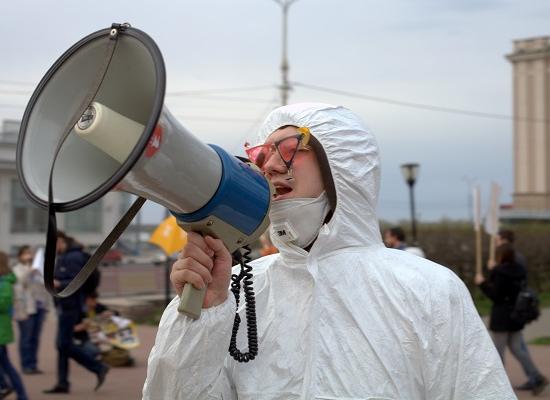
[[[143,203],[145,203],[145,199],[143,197],[137,198],[137,200],[134,202],[134,204],[132,204],[132,206],[126,212],[126,214],[116,224],[116,226],[111,231],[111,233],[107,236],[107,238],[103,241],[103,243],[101,243],[101,245],[97,248],[97,250],[94,252],[92,257],[88,260],[86,265],[78,272],[78,274],[74,277],[74,279],[62,291],[57,293],[54,285],[54,271],[55,271],[55,259],[56,259],[55,256],[56,256],[56,247],[57,247],[56,246],[57,220],[55,216],[56,207],[55,207],[54,197],[53,197],[53,171],[55,167],[55,162],[57,160],[59,151],[63,146],[63,143],[65,143],[65,140],[67,139],[70,132],[74,128],[75,124],[82,117],[82,114],[84,114],[86,109],[90,106],[90,104],[96,97],[99,91],[99,88],[101,87],[101,84],[105,79],[105,75],[107,74],[107,70],[109,69],[111,60],[113,59],[113,55],[118,43],[119,34],[124,32],[129,27],[130,27],[130,24],[128,23],[111,25],[111,31],[109,33],[109,37],[105,46],[105,57],[104,57],[103,63],[97,70],[97,74],[94,78],[93,84],[90,86],[90,90],[88,91],[86,97],[82,100],[82,102],[80,103],[77,109],[77,112],[70,119],[69,123],[65,127],[65,130],[63,131],[64,133],[61,136],[61,139],[59,140],[59,142],[57,143],[57,148],[54,152],[52,168],[50,170],[50,177],[48,182],[48,230],[46,234],[46,250],[44,252],[44,285],[46,286],[46,289],[48,290],[48,292],[50,292],[55,297],[68,297],[72,295],[74,292],[76,292],[84,284],[84,282],[86,282],[86,280],[90,277],[92,272],[96,269],[97,265],[99,264],[99,262],[101,261],[105,253],[112,247],[112,245],[120,237],[122,232],[124,232],[126,227],[128,227],[128,225],[130,224],[134,216],[137,214],[137,212],[139,211]]]

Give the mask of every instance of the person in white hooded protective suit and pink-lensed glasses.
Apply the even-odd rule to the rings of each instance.
[[[248,154],[277,189],[270,233],[280,251],[251,263],[259,354],[229,356],[231,256],[221,241],[189,234],[171,280],[178,293],[208,283],[204,308],[192,320],[177,297],[168,305],[143,399],[516,398],[464,284],[382,243],[378,150],[352,112],[284,106],[259,143]],[[242,298],[239,313],[245,320]],[[246,347],[245,329],[237,343]]]

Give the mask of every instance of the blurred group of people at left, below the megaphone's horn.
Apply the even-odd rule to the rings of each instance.
[[[56,243],[54,285],[62,290],[86,264],[90,255],[72,237],[59,231]],[[95,390],[103,384],[110,367],[132,366],[130,349],[139,345],[134,324],[109,310],[98,301],[100,272],[96,270],[73,295],[55,298],[44,287],[43,251],[21,246],[15,263],[0,251],[0,399],[15,393],[26,400],[21,374],[37,375],[43,323],[49,312],[57,317],[57,381],[44,394],[68,393],[69,359],[96,376]],[[15,341],[13,321],[17,325],[16,368],[7,345]]]

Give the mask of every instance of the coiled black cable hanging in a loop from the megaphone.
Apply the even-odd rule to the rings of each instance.
[[[244,290],[244,302],[246,305],[246,325],[248,336],[248,352],[243,353],[237,349],[237,332],[241,324],[239,313],[235,315],[233,321],[233,331],[231,333],[231,342],[229,343],[229,354],[238,362],[248,362],[258,355],[258,326],[256,324],[256,299],[254,297],[254,288],[252,287],[252,267],[248,265],[250,258],[250,247],[243,247],[244,254],[240,250],[233,253],[233,259],[241,265],[239,275],[231,275],[231,292],[235,296],[237,309],[239,308],[239,295],[241,291],[241,281]]]

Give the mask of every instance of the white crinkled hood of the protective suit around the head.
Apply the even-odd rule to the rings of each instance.
[[[326,154],[336,209],[321,228],[323,253],[346,247],[382,245],[376,217],[380,186],[380,161],[374,136],[350,110],[322,103],[300,103],[272,111],[260,129],[258,143],[285,125],[306,127]],[[319,162],[323,162],[318,156]],[[332,240],[337,238],[338,240]],[[276,238],[274,238],[276,241]],[[286,245],[278,242],[283,255]],[[282,247],[282,248],[281,248]]]

